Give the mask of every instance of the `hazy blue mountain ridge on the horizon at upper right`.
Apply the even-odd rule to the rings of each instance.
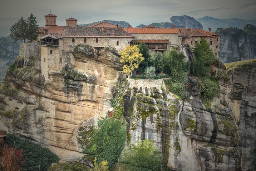
[[[256,20],[243,20],[239,18],[230,18],[230,19],[218,19],[213,17],[203,17],[198,18],[196,21],[200,22],[203,25],[204,30],[208,30],[208,28],[212,28],[212,31],[216,31],[217,28],[229,28],[229,27],[237,27],[244,28],[246,24],[256,25]]]

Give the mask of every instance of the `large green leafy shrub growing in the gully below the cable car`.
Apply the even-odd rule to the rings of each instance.
[[[84,153],[96,155],[96,163],[107,161],[111,169],[117,162],[126,141],[124,118],[105,118],[99,120],[98,125],[101,126],[88,147],[84,149]]]

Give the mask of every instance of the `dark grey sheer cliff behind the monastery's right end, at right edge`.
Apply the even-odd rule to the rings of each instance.
[[[237,28],[224,28],[215,32],[221,35],[219,44],[219,59],[223,63],[256,58],[256,27],[243,30]]]

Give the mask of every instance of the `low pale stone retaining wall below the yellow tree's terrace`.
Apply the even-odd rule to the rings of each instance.
[[[130,83],[129,87],[130,88],[137,88],[140,89],[141,88],[156,88],[158,90],[162,89],[162,82],[163,82],[163,78],[162,79],[158,79],[158,80],[134,80],[129,78],[128,82]]]

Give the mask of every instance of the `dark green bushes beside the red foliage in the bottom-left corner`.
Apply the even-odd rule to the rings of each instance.
[[[60,160],[48,148],[43,148],[38,144],[18,138],[10,133],[8,133],[4,141],[11,147],[22,149],[23,156],[26,160],[26,164],[22,166],[23,170],[39,170],[40,165],[40,169],[46,171],[52,163],[57,163]]]

